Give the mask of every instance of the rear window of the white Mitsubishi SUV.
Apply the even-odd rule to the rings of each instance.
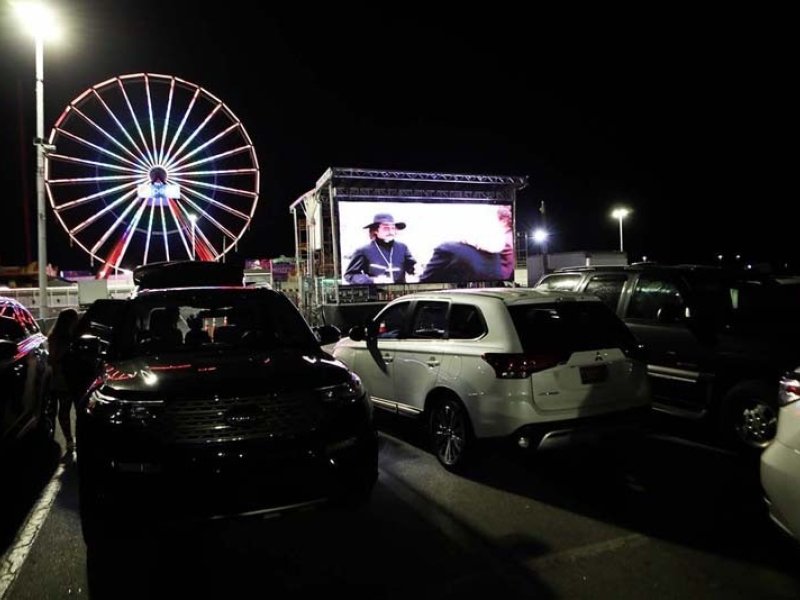
[[[602,302],[554,302],[508,307],[525,352],[628,349],[636,344],[619,317]]]

